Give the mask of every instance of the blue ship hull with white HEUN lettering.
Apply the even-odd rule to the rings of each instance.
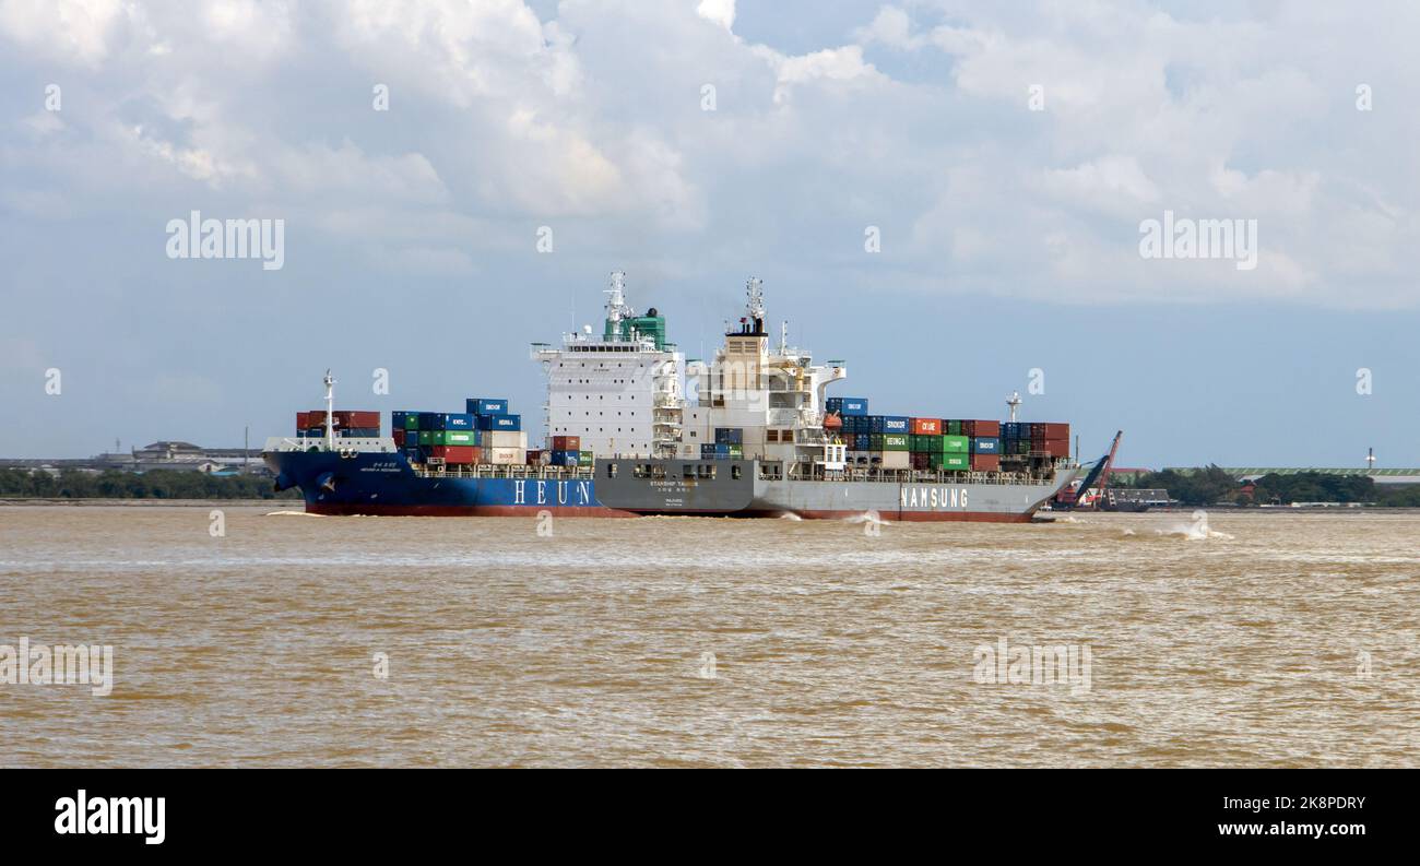
[[[268,451],[278,488],[300,487],[314,514],[437,517],[630,517],[596,501],[595,481],[435,478],[415,474],[403,454]]]

